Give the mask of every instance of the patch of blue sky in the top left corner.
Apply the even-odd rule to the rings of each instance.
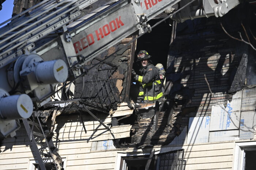
[[[14,0],[6,0],[2,4],[3,9],[0,11],[0,23],[3,23],[4,21],[12,17],[12,9],[14,6],[13,2]],[[1,25],[0,27],[3,27],[3,25]]]

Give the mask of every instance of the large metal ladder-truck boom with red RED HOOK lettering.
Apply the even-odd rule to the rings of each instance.
[[[81,17],[81,10],[93,3],[97,0],[44,0],[4,22],[11,21],[0,28],[0,119],[6,119],[5,124],[29,117],[31,107],[49,102],[56,83],[82,75],[86,70],[81,66],[106,49],[135,32],[150,32],[147,21],[174,4],[184,8],[173,16],[182,22],[196,17],[223,16],[240,2],[112,0]],[[1,107],[4,98],[12,100],[10,106],[18,107],[11,116],[4,114],[6,107]],[[20,104],[20,98],[29,101]],[[1,133],[6,136],[10,131]]]

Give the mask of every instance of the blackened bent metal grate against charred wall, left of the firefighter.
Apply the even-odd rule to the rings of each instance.
[[[86,67],[90,69],[98,64],[93,59]],[[101,63],[89,70],[86,76],[76,81],[75,98],[82,98],[88,106],[96,108],[113,108],[121,101],[120,91],[117,88],[117,79],[113,78],[117,67],[111,63]]]

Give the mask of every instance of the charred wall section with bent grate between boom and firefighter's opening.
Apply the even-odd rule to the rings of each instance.
[[[122,48],[132,37],[128,37],[105,52],[97,58],[87,63],[87,69],[95,64],[101,63],[101,60],[111,55],[116,50]],[[128,69],[130,66],[132,45],[122,48],[114,56],[99,64],[97,67],[89,70],[83,78],[76,80],[75,98],[81,98],[91,108],[103,108],[106,111],[116,110],[117,104],[125,100],[127,96]],[[85,88],[86,87],[86,88]]]

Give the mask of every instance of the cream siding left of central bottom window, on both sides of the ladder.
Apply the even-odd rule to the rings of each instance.
[[[131,126],[114,126],[111,128],[112,134],[110,134],[98,121],[86,119],[85,115],[83,115],[83,120],[87,133],[84,132],[81,119],[77,115],[57,117],[54,133],[55,137],[61,141],[58,146],[59,154],[61,157],[67,158],[66,169],[114,169],[116,150],[91,152],[91,141],[112,139],[112,134],[115,138],[129,137]],[[111,123],[111,118],[101,120],[105,124]],[[28,141],[23,127],[17,131],[16,139],[3,140],[0,147],[2,151],[0,153],[0,170],[27,169],[29,167],[29,160],[34,158]]]

